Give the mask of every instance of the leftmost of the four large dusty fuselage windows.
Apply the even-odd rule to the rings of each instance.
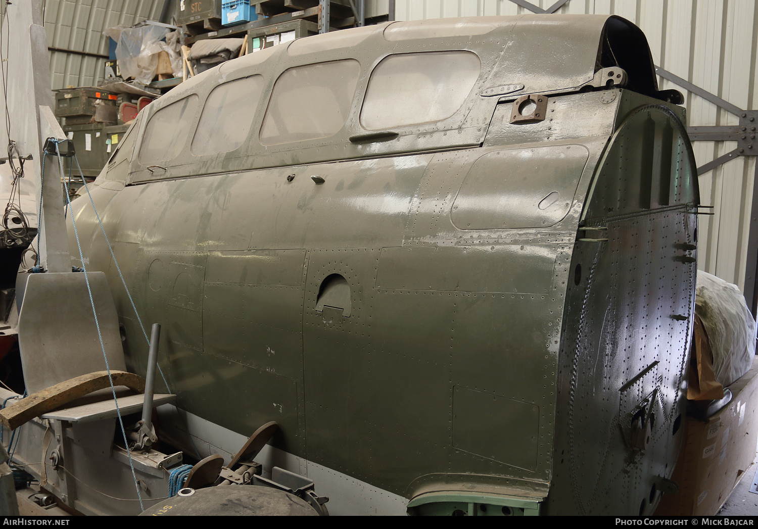
[[[182,150],[197,114],[198,97],[189,95],[152,114],[139,147],[139,163],[173,160]]]

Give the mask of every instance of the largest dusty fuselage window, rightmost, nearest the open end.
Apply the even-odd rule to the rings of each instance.
[[[461,108],[480,70],[471,52],[390,55],[368,80],[361,125],[383,130],[446,119]]]

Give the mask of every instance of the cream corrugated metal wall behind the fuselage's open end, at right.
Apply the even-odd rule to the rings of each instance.
[[[555,0],[531,2],[547,10]],[[386,0],[367,6],[367,15]],[[396,0],[396,20],[529,13],[510,0]],[[758,0],[568,0],[557,13],[618,14],[647,35],[656,65],[740,108],[756,108]],[[661,89],[686,96],[688,125],[732,125],[738,117],[659,77]],[[735,149],[736,142],[695,142],[697,164]],[[700,176],[698,268],[743,286],[747,227],[753,196],[755,157],[740,157]]]

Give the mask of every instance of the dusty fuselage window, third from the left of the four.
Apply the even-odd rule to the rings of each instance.
[[[358,61],[331,61],[290,68],[280,75],[261,127],[261,143],[326,138],[347,121],[361,73]]]

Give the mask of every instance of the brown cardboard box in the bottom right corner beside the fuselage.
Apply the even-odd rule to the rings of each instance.
[[[685,421],[684,445],[672,480],[678,493],[664,495],[656,515],[715,515],[756,456],[758,360],[728,388],[731,402],[704,420]]]

